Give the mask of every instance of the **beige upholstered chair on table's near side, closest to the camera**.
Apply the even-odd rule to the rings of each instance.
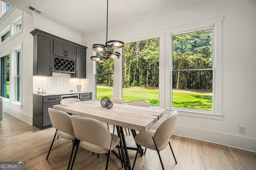
[[[78,139],[71,170],[74,166],[79,145],[82,148],[91,152],[95,152],[97,154],[108,154],[106,162],[107,170],[110,151],[118,145],[118,143],[120,142],[120,138],[114,134],[111,134],[108,131],[108,128],[101,121],[98,121],[96,119],[72,115],[71,120],[74,128],[75,137],[76,139]],[[120,155],[119,147],[118,151]]]

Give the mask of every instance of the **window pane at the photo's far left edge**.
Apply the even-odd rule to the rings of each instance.
[[[1,58],[1,96],[10,97],[10,55]]]

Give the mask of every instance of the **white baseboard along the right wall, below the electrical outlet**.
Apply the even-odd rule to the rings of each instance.
[[[233,147],[256,153],[256,139],[175,125],[173,135]]]

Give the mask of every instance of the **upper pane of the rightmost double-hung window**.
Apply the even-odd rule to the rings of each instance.
[[[212,68],[212,29],[172,36],[173,70]]]

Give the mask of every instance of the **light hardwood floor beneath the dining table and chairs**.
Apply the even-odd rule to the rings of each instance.
[[[113,126],[110,125],[110,128]],[[39,130],[20,119],[4,113],[0,122],[0,161],[26,161],[27,170],[67,169],[72,142],[56,139],[46,161],[55,129]],[[126,136],[128,146],[136,147],[131,136]],[[213,143],[172,136],[170,139],[178,164],[175,164],[169,147],[160,151],[166,170],[256,170],[256,153]],[[131,164],[136,151],[129,150]],[[78,149],[74,169],[104,170],[106,155],[92,155],[81,147]],[[120,161],[110,155],[109,170],[121,170]],[[161,170],[156,151],[147,150],[146,155],[138,156],[135,170]]]

